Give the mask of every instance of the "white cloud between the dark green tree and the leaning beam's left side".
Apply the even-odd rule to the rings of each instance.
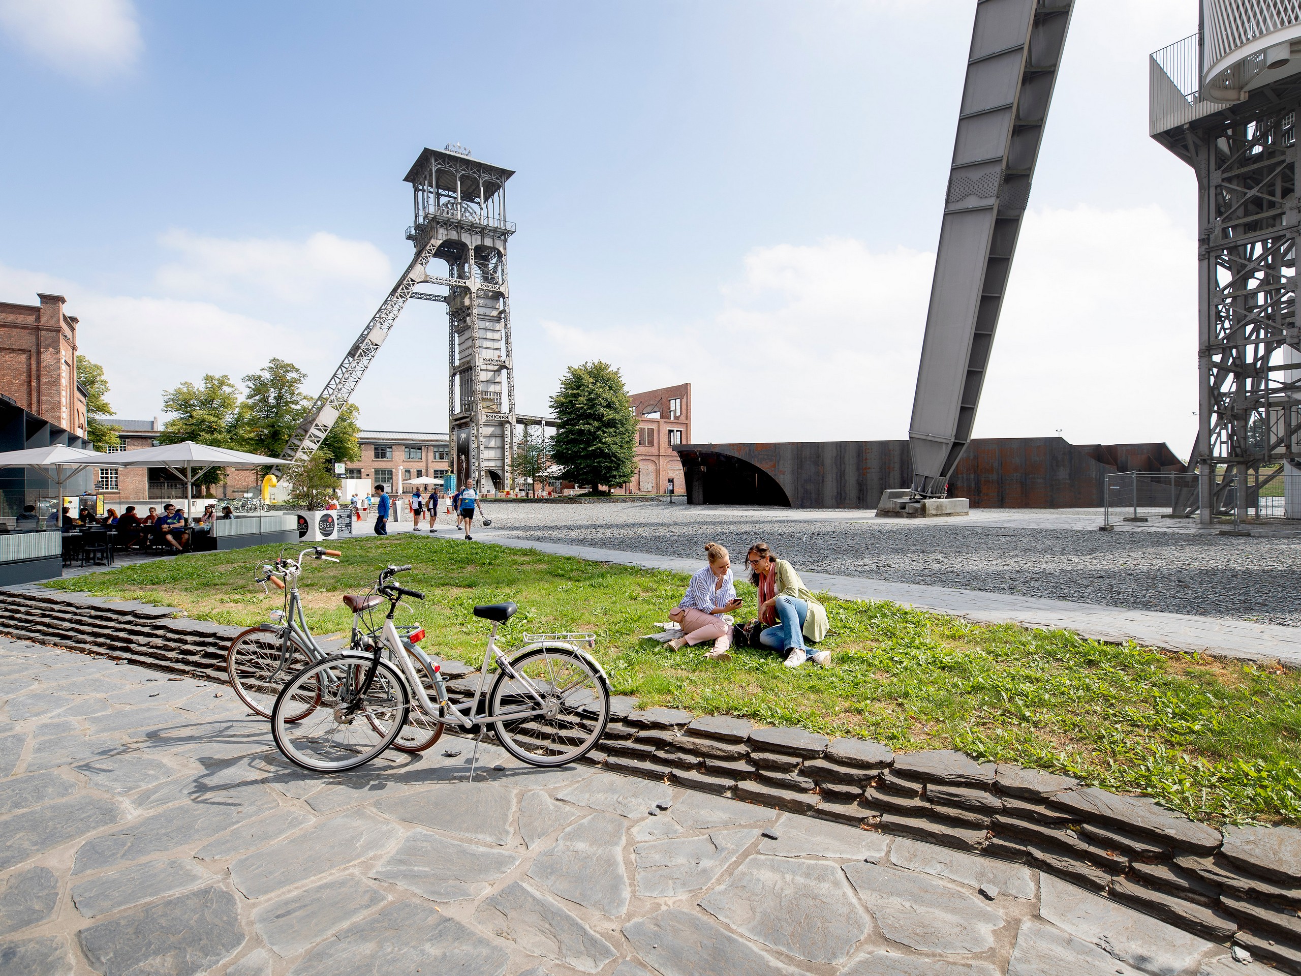
[[[712,321],[544,327],[567,362],[608,359],[631,389],[691,381],[697,441],[907,436],[933,263],[851,239],[758,247]]]

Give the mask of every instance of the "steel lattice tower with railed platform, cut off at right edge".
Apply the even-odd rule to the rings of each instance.
[[[1198,491],[1188,509],[1209,524],[1245,518],[1249,474],[1259,491],[1280,465],[1301,470],[1301,0],[1202,0],[1197,33],[1153,53],[1149,77],[1149,133],[1197,177]]]

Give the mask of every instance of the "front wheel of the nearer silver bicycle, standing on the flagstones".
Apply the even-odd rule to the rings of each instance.
[[[388,661],[376,665],[364,695],[369,660],[337,655],[308,665],[285,685],[271,711],[271,734],[290,763],[319,773],[364,765],[384,752],[407,718],[406,682]],[[306,718],[290,721],[308,704]]]

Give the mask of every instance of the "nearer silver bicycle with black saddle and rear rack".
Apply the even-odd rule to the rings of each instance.
[[[372,597],[388,600],[389,608],[382,631],[369,638],[371,653],[350,651],[316,661],[281,690],[271,730],[290,763],[320,773],[364,765],[393,744],[412,707],[431,722],[477,730],[471,779],[479,742],[489,727],[506,752],[536,766],[574,763],[601,740],[610,720],[610,685],[601,665],[579,647],[595,645],[596,636],[526,634],[532,643],[507,657],[497,647],[497,630],[518,610],[514,603],[474,608],[475,617],[492,621],[492,632],[468,713],[448,699],[437,664],[432,671],[436,701],[431,700],[393,625],[403,596],[424,599],[424,593],[392,582],[409,569],[389,566],[380,573]],[[485,695],[492,664],[498,674]],[[358,721],[363,717],[366,721]]]

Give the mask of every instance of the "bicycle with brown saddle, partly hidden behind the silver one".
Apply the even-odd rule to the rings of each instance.
[[[316,560],[338,562],[342,554],[337,549],[324,549],[319,545],[308,547],[298,553],[297,560],[278,557],[273,563],[263,565],[263,574],[254,578],[263,590],[267,583],[272,583],[285,592],[285,606],[282,610],[272,610],[276,623],[260,623],[237,634],[226,651],[226,675],[230,678],[230,687],[252,712],[263,718],[271,718],[276,698],[284,683],[295,671],[302,670],[315,661],[323,661],[329,655],[316,643],[307,619],[303,617],[303,604],[298,595],[298,576],[302,574],[302,560],[307,553],[314,553]],[[345,596],[343,604],[353,610],[353,632],[349,639],[350,648],[359,648],[363,635],[358,629],[358,619],[363,613],[372,609],[373,603],[367,603],[368,597]],[[416,656],[420,666],[432,687],[433,662],[415,644],[424,638],[424,632],[415,632],[416,627],[406,627],[409,632],[402,635],[406,648]],[[289,721],[298,721],[310,714],[311,708],[304,707],[302,714],[289,716]],[[440,722],[429,722],[424,714],[414,716],[410,727],[405,727],[394,748],[406,752],[423,752],[433,746],[442,735]]]

